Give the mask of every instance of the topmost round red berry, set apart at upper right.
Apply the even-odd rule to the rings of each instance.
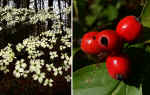
[[[135,40],[141,32],[142,25],[135,16],[126,16],[117,25],[116,32],[127,42]]]

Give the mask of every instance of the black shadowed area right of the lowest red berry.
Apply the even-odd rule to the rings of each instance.
[[[125,52],[131,59],[132,64],[130,76],[124,82],[137,88],[142,84],[143,95],[149,95],[150,53],[142,48],[129,48]]]

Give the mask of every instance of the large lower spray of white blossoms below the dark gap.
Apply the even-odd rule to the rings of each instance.
[[[50,77],[49,73],[51,72],[50,74],[52,74],[54,77],[61,75],[66,79],[67,82],[70,82],[71,77],[69,75],[63,75],[65,72],[69,71],[72,60],[71,54],[65,52],[67,48],[69,48],[71,52],[71,33],[69,33],[70,29],[66,30],[67,31],[65,31],[64,36],[62,36],[60,32],[49,30],[42,32],[39,34],[39,36],[29,36],[28,38],[24,39],[22,43],[18,43],[16,45],[16,50],[19,53],[22,53],[22,51],[27,52],[27,58],[29,62],[27,62],[26,59],[17,60],[15,63],[15,69],[13,70],[13,75],[16,78],[26,78],[31,76],[33,80],[37,80],[44,86],[52,87],[55,79]],[[59,37],[61,35],[61,39],[58,40],[57,35],[59,35]],[[56,50],[55,46],[57,46],[56,44],[58,42],[61,44],[57,47]],[[45,52],[39,48],[49,50],[48,52],[50,61],[48,62],[51,63],[47,63],[45,62],[45,59],[40,58],[41,56],[45,55]],[[8,44],[8,46],[4,49],[1,49],[0,57],[2,57],[0,60],[0,70],[4,72],[8,72],[9,69],[7,66],[9,63],[13,62],[14,59],[17,59],[15,57],[15,53],[11,49],[10,44]],[[62,62],[57,62],[57,65],[59,66],[55,65],[56,63],[53,61],[55,58],[60,59],[60,62]],[[27,68],[27,66],[29,68]],[[44,72],[45,70],[43,71],[44,68],[46,72]]]

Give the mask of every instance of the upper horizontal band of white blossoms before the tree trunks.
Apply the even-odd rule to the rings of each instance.
[[[67,7],[62,10],[62,13],[69,14],[70,9],[71,7]],[[16,9],[9,6],[4,8],[0,7],[0,21],[6,21],[7,26],[14,26],[20,22],[36,24],[38,21],[45,22],[48,19],[52,21],[59,20],[59,14],[44,9],[36,13],[35,10],[27,8]]]

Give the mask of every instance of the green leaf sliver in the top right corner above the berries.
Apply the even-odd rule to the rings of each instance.
[[[146,4],[142,13],[142,24],[150,28],[150,0],[146,0]]]

